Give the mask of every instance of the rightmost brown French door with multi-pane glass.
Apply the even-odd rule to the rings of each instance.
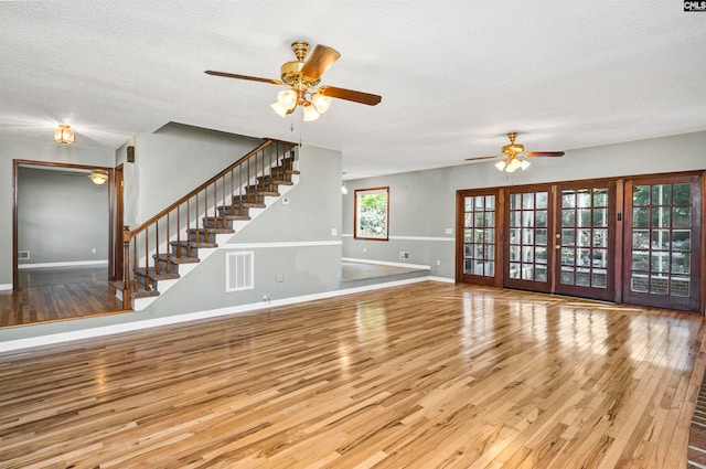
[[[634,181],[627,189],[625,301],[697,310],[698,180]]]

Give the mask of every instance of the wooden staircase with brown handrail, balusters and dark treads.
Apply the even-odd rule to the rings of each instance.
[[[194,245],[215,247],[217,231],[226,228],[226,215],[240,215],[238,207],[257,206],[264,202],[261,192],[275,192],[277,173],[272,168],[293,169],[296,147],[297,143],[268,139],[137,228],[125,226],[124,309],[132,309],[133,298],[156,295],[150,274],[171,274],[172,244],[180,251],[183,246],[185,257],[193,257]],[[199,227],[200,217],[203,228]],[[181,252],[180,256],[184,257]]]

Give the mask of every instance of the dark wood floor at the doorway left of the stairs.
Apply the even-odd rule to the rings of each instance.
[[[106,266],[20,269],[20,289],[0,291],[0,327],[122,312]]]

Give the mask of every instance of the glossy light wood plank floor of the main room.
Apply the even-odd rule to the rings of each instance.
[[[4,353],[0,467],[682,469],[703,335],[427,281]]]

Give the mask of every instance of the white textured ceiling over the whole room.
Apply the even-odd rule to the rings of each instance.
[[[314,122],[269,108],[306,40],[341,58]],[[343,152],[346,179],[706,129],[706,13],[678,0],[0,1],[0,136],[117,148],[178,121]],[[293,130],[292,130],[293,126]],[[570,154],[567,154],[568,158]]]

